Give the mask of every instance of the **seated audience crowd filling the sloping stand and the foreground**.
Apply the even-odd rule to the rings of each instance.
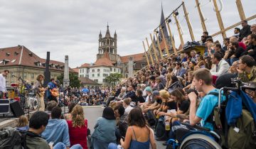
[[[176,139],[172,127],[181,122],[213,131],[208,117],[218,104],[219,89],[231,84],[231,77],[256,87],[256,24],[242,21],[241,25],[241,30],[235,28],[234,35],[225,38],[223,46],[203,32],[205,53],[172,54],[116,87],[70,89],[68,114],[63,116],[53,100],[46,112],[33,114],[29,127],[24,120],[18,129],[28,131],[28,148],[87,148],[87,138],[91,138],[90,148],[95,149],[146,149],[150,145],[155,149],[155,140]],[[247,89],[247,94],[255,104],[255,90]],[[107,107],[90,135],[80,105],[103,101]]]

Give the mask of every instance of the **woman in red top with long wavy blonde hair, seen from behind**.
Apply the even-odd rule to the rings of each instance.
[[[76,105],[71,112],[71,121],[68,122],[70,145],[80,144],[87,149],[87,120],[85,119],[82,106]]]

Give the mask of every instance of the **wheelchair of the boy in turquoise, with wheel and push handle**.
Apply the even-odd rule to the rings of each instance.
[[[225,120],[225,106],[228,99],[223,102],[221,102],[220,99],[222,96],[228,97],[230,91],[240,92],[245,91],[245,89],[256,90],[255,87],[248,87],[238,80],[235,80],[235,82],[238,83],[237,87],[223,87],[219,90],[218,93],[218,106],[215,107],[214,111],[218,112],[220,122],[213,121],[213,123],[215,123],[215,127],[220,126],[221,128],[210,131],[209,128],[191,126],[188,123],[181,123],[181,126],[176,129],[176,139],[167,140],[166,144],[169,145],[168,148],[228,148],[228,136],[226,134],[228,132],[228,124]]]

